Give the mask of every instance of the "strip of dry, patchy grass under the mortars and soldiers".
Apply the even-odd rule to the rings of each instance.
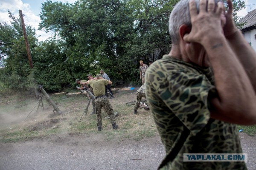
[[[0,141],[18,142],[23,140],[42,138],[52,135],[71,135],[104,133],[106,139],[122,140],[123,138],[140,140],[144,137],[157,135],[154,121],[150,111],[141,108],[136,115],[133,114],[134,105],[127,106],[127,102],[136,100],[136,93],[117,93],[113,99],[109,99],[116,116],[118,130],[113,130],[109,119],[105,119],[107,114],[102,110],[101,132],[97,131],[96,115],[90,115],[92,105],[89,105],[87,115],[84,115],[81,122],[78,122],[84,109],[87,106],[86,97],[65,96],[53,97],[52,100],[58,103],[58,108],[63,115],[57,115],[52,112],[53,108],[43,99],[44,110],[42,107],[37,111],[37,100],[28,99],[24,96],[8,96],[0,103]],[[20,107],[17,107],[20,106]],[[32,111],[32,108],[35,109]],[[31,112],[29,117],[26,116]],[[26,119],[24,121],[24,119]]]

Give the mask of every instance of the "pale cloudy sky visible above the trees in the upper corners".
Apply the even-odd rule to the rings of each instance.
[[[41,22],[39,14],[41,13],[42,3],[47,0],[0,0],[0,22],[10,24],[11,19],[8,17],[8,9],[16,17],[20,17],[19,9],[25,15],[23,17],[25,25],[31,25],[36,29],[36,35],[39,41],[44,41],[53,36],[50,33],[38,30],[38,23]],[[52,0],[52,2],[74,3],[76,0]],[[244,17],[248,12],[256,9],[256,0],[244,0],[246,8],[238,12],[239,17]]]

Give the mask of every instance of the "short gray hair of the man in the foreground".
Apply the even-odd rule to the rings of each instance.
[[[215,0],[215,4],[222,0]],[[199,11],[199,0],[195,0],[197,9]],[[179,42],[179,28],[181,25],[191,26],[191,19],[189,14],[189,0],[180,0],[173,8],[169,17],[169,34],[172,43],[177,45]]]

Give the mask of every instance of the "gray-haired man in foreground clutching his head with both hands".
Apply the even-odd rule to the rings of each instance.
[[[247,169],[244,161],[205,161],[243,157],[234,124],[256,124],[256,53],[227,4],[225,13],[221,1],[180,0],[169,18],[172,49],[146,71],[148,105],[166,149],[159,169]]]

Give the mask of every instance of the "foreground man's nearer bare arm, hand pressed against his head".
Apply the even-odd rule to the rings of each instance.
[[[253,86],[223,34],[220,20],[223,4],[218,3],[216,11],[213,11],[214,0],[208,1],[208,11],[206,5],[207,1],[201,0],[200,12],[197,14],[195,1],[190,1],[192,31],[184,36],[184,40],[203,45],[212,65],[218,97],[210,101],[214,108],[211,117],[242,125],[256,124]]]

